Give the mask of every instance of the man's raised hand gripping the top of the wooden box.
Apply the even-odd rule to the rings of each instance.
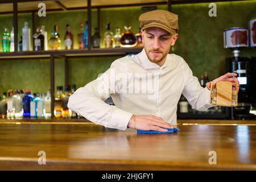
[[[218,81],[230,81],[232,82],[232,86],[236,86],[236,83],[238,83],[237,92],[239,90],[239,81],[237,80],[237,73],[226,73],[225,75],[222,75],[212,82],[212,87],[215,87]],[[206,84],[207,88],[210,90],[210,82],[207,82]]]

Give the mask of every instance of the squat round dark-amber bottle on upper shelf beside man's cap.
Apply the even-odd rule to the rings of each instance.
[[[134,47],[137,45],[137,38],[130,30],[131,26],[125,26],[125,32],[122,34],[120,40],[121,47]]]

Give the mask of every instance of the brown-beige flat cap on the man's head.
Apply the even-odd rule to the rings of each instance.
[[[166,10],[154,10],[139,16],[139,22],[141,22],[141,30],[148,27],[163,28],[171,34],[176,34],[179,30],[178,15]]]

